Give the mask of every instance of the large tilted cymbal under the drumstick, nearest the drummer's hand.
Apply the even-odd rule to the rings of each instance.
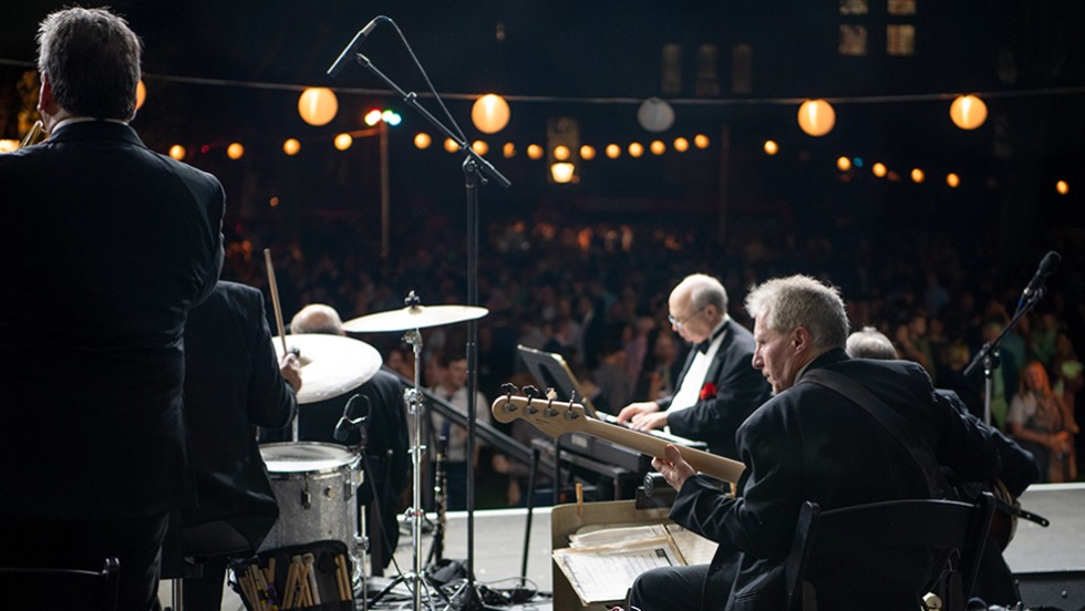
[[[282,340],[272,338],[275,351],[282,358]],[[298,403],[309,404],[337,397],[362,385],[381,369],[381,353],[370,344],[318,333],[287,335],[287,349],[301,354],[301,390]]]

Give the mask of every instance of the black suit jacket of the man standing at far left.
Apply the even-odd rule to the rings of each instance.
[[[221,185],[106,121],[0,155],[0,517],[178,507],[182,336],[221,269]]]

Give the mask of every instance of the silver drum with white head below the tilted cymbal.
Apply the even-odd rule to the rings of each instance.
[[[279,501],[279,521],[259,551],[338,539],[358,558],[360,456],[316,442],[265,444],[260,455]]]

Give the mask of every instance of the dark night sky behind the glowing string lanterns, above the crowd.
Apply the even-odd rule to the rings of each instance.
[[[64,3],[23,1],[6,8],[0,60],[32,61],[37,22]],[[514,188],[487,193],[517,209],[530,211],[557,201],[575,210],[606,213],[616,206],[651,209],[653,201],[668,200],[672,210],[695,213],[711,211],[724,197],[737,211],[758,206],[823,210],[871,199],[882,206],[919,199],[927,206],[959,206],[964,219],[971,207],[995,207],[1005,227],[1019,226],[1017,217],[1035,209],[1046,210],[1040,222],[1079,227],[1077,219],[1085,216],[1079,214],[1085,207],[1085,6],[1072,0],[918,0],[917,15],[905,20],[918,32],[917,54],[907,59],[882,51],[881,32],[892,22],[884,14],[884,0],[871,0],[871,14],[852,20],[870,31],[870,53],[861,59],[837,53],[838,28],[847,20],[838,14],[836,2],[117,0],[112,6],[146,43],[149,101],[135,123],[145,141],[159,149],[174,142],[192,151],[210,144],[211,153],[188,160],[223,174],[231,193],[255,200],[286,194],[285,200],[314,199],[318,206],[334,207],[337,199],[371,198],[372,188],[362,188],[360,196],[355,191],[359,185],[374,184],[374,147],[356,145],[349,154],[338,154],[316,142],[359,128],[358,117],[373,104],[396,106],[404,116],[392,142],[393,197],[422,201],[420,206],[459,199],[458,160],[411,147],[411,134],[432,130],[396,96],[341,90],[340,113],[331,125],[310,127],[298,117],[298,92],[289,86],[385,89],[356,64],[335,81],[324,71],[362,25],[386,14],[402,29],[442,94],[494,91],[550,99],[513,102],[513,122],[492,145],[512,139],[521,151],[528,142],[545,143],[546,122],[557,116],[578,118],[581,141],[600,147],[611,141],[647,142],[650,134],[637,124],[636,102],[661,95],[662,45],[676,43],[682,50],[681,92],[665,97],[683,100],[696,97],[699,45],[719,45],[720,97],[675,102],[678,120],[664,134],[670,139],[705,133],[713,139],[709,151],[682,158],[669,153],[636,162],[639,165],[628,158],[597,160],[583,167],[580,184],[557,187],[546,182],[541,162],[529,163],[523,154],[504,159],[492,149],[488,157],[513,179]],[[731,52],[737,44],[753,49],[748,94],[730,91]],[[362,51],[403,89],[424,91],[393,28],[379,28]],[[18,72],[3,65],[0,71]],[[177,77],[235,83],[196,85]],[[242,82],[286,89],[254,89]],[[1058,87],[1078,91],[1008,95]],[[812,138],[795,124],[794,104],[766,102],[969,91],[1002,96],[988,100],[991,118],[975,132],[949,123],[948,100],[841,101],[834,132]],[[588,103],[591,97],[630,102]],[[435,111],[432,101],[426,103]],[[468,104],[448,100],[468,138],[474,138],[478,134],[469,125]],[[10,121],[4,131],[12,131]],[[287,162],[278,147],[291,136],[302,139],[303,153]],[[773,158],[760,152],[768,137],[782,145]],[[227,162],[216,153],[235,139],[249,151],[244,170],[221,165]],[[725,164],[721,143],[730,149]],[[921,165],[932,178],[922,188],[875,184],[866,173],[845,180],[833,169],[839,155],[882,159],[901,172]],[[720,172],[724,165],[725,188]],[[947,170],[965,176],[965,186],[955,191],[937,187]],[[1070,197],[1053,195],[1057,177],[1078,185]],[[887,220],[891,221],[882,219]]]

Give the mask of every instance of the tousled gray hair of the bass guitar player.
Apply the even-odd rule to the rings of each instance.
[[[799,327],[809,331],[814,345],[844,348],[848,315],[836,287],[808,276],[774,278],[750,289],[746,312],[762,317],[762,324],[788,332]]]

